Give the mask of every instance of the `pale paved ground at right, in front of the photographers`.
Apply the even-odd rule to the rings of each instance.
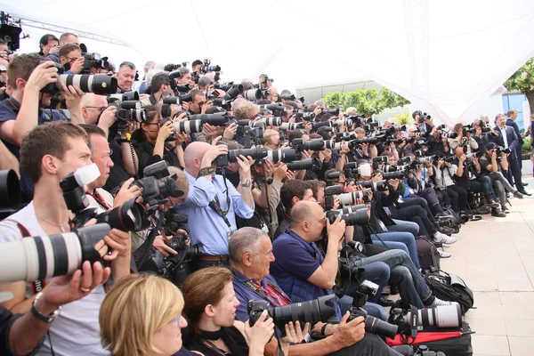
[[[534,192],[534,179],[523,177]],[[506,218],[483,215],[454,235],[443,271],[457,273],[473,289],[465,315],[474,355],[534,355],[534,196],[511,199]]]

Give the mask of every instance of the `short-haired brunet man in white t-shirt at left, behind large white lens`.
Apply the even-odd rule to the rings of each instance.
[[[77,168],[91,164],[91,150],[87,147],[87,135],[77,125],[53,122],[40,125],[23,139],[20,149],[20,168],[35,184],[35,196],[28,206],[0,223],[0,241],[20,240],[24,236],[53,235],[70,231],[68,210],[60,182]],[[101,255],[111,247],[112,254],[104,255],[111,262],[111,274],[115,281],[129,274],[131,257],[130,235],[115,229],[97,244]],[[24,281],[0,286],[10,291],[12,300],[2,304],[11,312],[29,312],[37,291],[46,291],[49,280]],[[43,288],[44,287],[44,288]],[[85,297],[63,307],[53,322],[49,336],[44,341],[41,354],[53,352],[69,355],[72,350],[80,354],[105,355],[97,337],[98,308],[104,297],[104,287],[91,291],[80,287]]]

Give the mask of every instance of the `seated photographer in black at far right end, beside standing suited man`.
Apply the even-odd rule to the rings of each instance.
[[[515,198],[523,198],[522,193],[515,190],[513,186],[506,181],[505,176],[501,173],[501,170],[508,168],[508,160],[506,153],[501,150],[495,143],[490,142],[486,147],[484,156],[480,159],[481,163],[481,175],[489,175],[491,184],[494,190],[497,191],[497,196],[501,205],[501,209],[491,210],[492,216],[505,217],[509,213],[506,207],[506,190],[514,194]]]

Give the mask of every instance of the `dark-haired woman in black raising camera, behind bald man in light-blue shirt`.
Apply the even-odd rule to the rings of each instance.
[[[169,166],[183,167],[183,149],[182,142],[185,142],[185,134],[174,134],[173,122],[167,121],[161,124],[161,115],[158,109],[152,105],[146,105],[146,118],[141,123],[138,130],[132,134],[135,153],[138,158],[138,174],[142,176],[142,170],[146,166],[165,160]],[[185,114],[174,119],[182,120]],[[176,139],[172,142],[166,140],[173,136]],[[134,172],[128,172],[134,174]]]

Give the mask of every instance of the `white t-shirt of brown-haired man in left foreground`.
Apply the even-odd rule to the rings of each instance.
[[[37,222],[36,212],[31,202],[18,213],[12,214],[8,219],[21,223],[31,236],[46,235]],[[13,222],[0,223],[0,243],[22,239],[20,230]],[[1,247],[0,247],[1,248]],[[31,283],[27,283],[26,296],[33,295]],[[77,355],[109,355],[101,346],[98,314],[104,297],[104,287],[99,286],[76,302],[63,305],[60,316],[53,320],[49,336],[45,336],[44,344],[37,355],[57,356]]]

